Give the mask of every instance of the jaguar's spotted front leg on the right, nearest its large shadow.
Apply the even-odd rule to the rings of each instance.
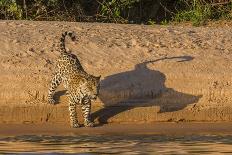
[[[85,127],[93,127],[94,123],[91,120],[91,100],[90,99],[83,99],[81,104],[81,110],[84,117],[84,126]]]

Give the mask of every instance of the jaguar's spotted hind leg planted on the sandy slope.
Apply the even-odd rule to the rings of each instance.
[[[61,75],[59,73],[56,73],[51,80],[50,87],[48,90],[48,103],[55,104],[55,100],[53,96],[56,88],[60,85],[61,82],[62,82]]]

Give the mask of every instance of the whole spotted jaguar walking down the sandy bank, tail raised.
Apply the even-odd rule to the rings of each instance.
[[[98,96],[100,76],[95,77],[85,72],[76,55],[66,51],[66,36],[69,36],[72,41],[76,40],[74,32],[62,33],[60,38],[60,57],[57,60],[55,74],[50,83],[48,102],[51,104],[55,103],[53,99],[54,92],[63,83],[69,99],[71,126],[74,128],[80,127],[76,112],[76,105],[80,104],[84,117],[84,126],[93,127],[94,124],[90,118],[91,100],[95,100]]]

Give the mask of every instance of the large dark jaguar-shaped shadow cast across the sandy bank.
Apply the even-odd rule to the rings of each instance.
[[[194,58],[191,56],[164,57],[137,64],[132,71],[104,78],[101,81],[99,95],[104,108],[94,112],[92,119],[104,124],[109,118],[135,107],[159,106],[159,113],[164,113],[182,110],[189,104],[196,103],[202,95],[194,96],[167,88],[165,75],[147,67],[149,63],[168,59],[181,63]]]

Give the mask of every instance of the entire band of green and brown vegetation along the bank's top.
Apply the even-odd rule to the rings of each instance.
[[[231,0],[0,0],[0,19],[168,24],[231,20]]]

